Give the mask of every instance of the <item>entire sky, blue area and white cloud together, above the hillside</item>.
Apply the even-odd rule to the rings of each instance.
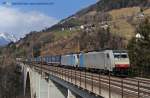
[[[7,2],[8,5],[3,4]],[[11,3],[51,3],[51,5],[10,5]],[[94,4],[96,0],[1,0],[0,32],[17,38],[57,23],[75,12]]]

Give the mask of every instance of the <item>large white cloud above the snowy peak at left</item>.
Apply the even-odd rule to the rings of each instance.
[[[13,33],[17,38],[30,31],[42,30],[57,23],[57,19],[43,13],[0,6],[0,32]]]

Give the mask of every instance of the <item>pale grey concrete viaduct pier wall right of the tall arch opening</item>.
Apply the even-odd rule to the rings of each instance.
[[[45,79],[38,72],[30,70],[27,74],[27,77],[30,78],[31,98],[66,98],[67,89],[50,79]]]

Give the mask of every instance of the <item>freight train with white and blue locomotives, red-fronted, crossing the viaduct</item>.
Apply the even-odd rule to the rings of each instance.
[[[127,75],[130,67],[128,53],[125,50],[102,50],[36,57],[28,61],[113,75]]]

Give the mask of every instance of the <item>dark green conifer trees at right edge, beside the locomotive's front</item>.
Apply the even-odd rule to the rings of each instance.
[[[150,21],[145,19],[137,28],[139,38],[129,42],[129,56],[133,66],[149,73],[150,70]]]

